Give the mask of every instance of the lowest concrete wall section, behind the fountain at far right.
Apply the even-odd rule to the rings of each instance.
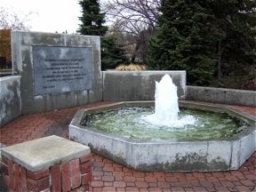
[[[256,107],[256,92],[235,89],[187,86],[186,100]]]

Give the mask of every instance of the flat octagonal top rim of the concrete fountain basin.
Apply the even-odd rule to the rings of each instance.
[[[198,101],[190,101],[190,100],[179,100],[179,107],[180,108],[193,108],[193,109],[199,109],[199,110],[205,110],[205,111],[211,111],[211,112],[217,112],[217,113],[227,113],[228,116],[233,116],[238,119],[243,120],[247,124],[250,124],[249,127],[242,132],[236,133],[232,138],[223,138],[223,139],[172,139],[172,140],[136,140],[136,139],[130,139],[126,138],[121,135],[117,135],[116,133],[112,132],[103,132],[96,128],[82,125],[82,121],[84,119],[84,116],[87,114],[97,114],[100,112],[106,112],[109,110],[117,109],[117,108],[129,108],[129,107],[152,107],[154,106],[154,100],[136,100],[136,101],[118,101],[113,102],[101,106],[95,106],[92,108],[83,108],[79,109],[76,112],[76,115],[72,119],[70,125],[75,125],[77,128],[80,129],[86,129],[88,132],[94,132],[95,134],[104,135],[104,137],[109,137],[111,139],[115,140],[123,140],[125,142],[129,143],[170,143],[170,142],[211,142],[211,141],[232,141],[232,140],[241,140],[245,135],[248,135],[252,133],[255,130],[255,117],[251,116],[249,114],[246,114],[240,110],[237,110],[236,108],[230,108],[225,105],[221,104],[213,104],[213,103],[203,103]],[[72,138],[71,138],[72,139]]]

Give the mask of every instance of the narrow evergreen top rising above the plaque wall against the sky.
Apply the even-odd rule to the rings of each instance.
[[[81,0],[82,17],[79,17],[82,24],[79,25],[78,33],[82,35],[104,36],[108,27],[105,23],[105,13],[100,12],[100,2],[98,0]]]

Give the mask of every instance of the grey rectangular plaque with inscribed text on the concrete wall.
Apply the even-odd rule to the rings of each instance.
[[[92,47],[33,46],[34,95],[92,89]]]

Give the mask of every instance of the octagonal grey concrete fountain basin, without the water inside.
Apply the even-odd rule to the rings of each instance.
[[[192,101],[180,101],[182,108],[225,112],[251,126],[225,140],[131,140],[81,125],[84,116],[115,108],[149,107],[154,101],[126,101],[80,109],[69,124],[69,138],[88,145],[93,152],[138,171],[190,172],[238,169],[255,151],[255,119],[233,108]]]

